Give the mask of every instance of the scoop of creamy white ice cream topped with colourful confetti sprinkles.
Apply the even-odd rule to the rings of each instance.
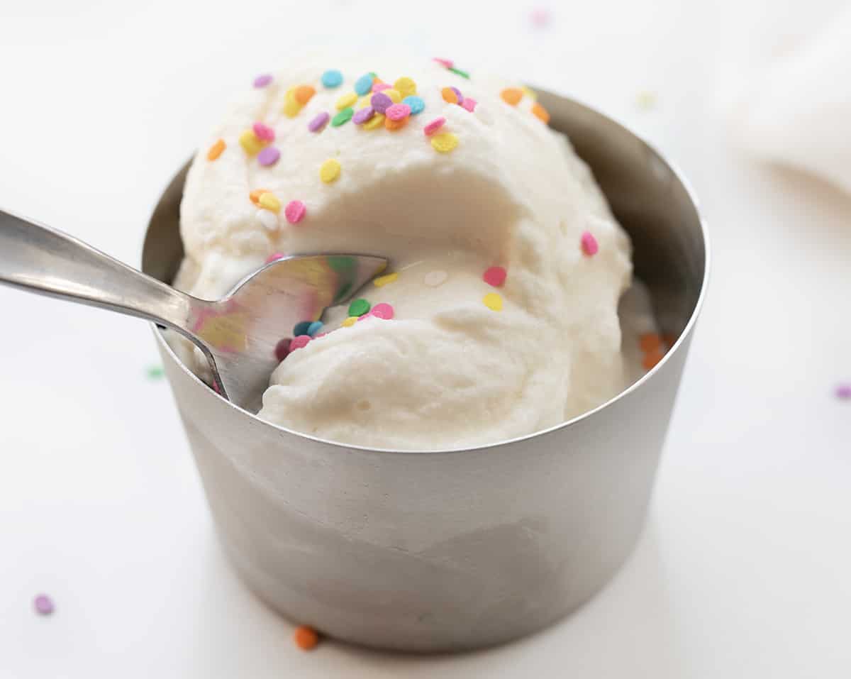
[[[391,268],[358,296],[393,311],[328,310],[328,334],[272,374],[261,418],[457,448],[625,387],[630,242],[533,93],[426,60],[314,62],[255,84],[192,163],[177,284],[216,297],[273,253],[381,254]]]

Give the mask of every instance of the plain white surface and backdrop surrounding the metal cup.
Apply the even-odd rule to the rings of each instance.
[[[404,44],[654,140],[702,200],[714,270],[634,556],[550,630],[434,658],[294,648],[220,553],[145,324],[0,289],[0,677],[849,676],[851,197],[747,157],[726,122],[838,6],[2,0],[0,204],[122,260],[257,72]]]

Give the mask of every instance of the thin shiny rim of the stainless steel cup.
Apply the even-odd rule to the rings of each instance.
[[[686,178],[683,172],[680,170],[677,163],[671,161],[670,158],[666,157],[655,145],[648,142],[648,140],[644,139],[640,134],[637,134],[634,130],[629,128],[625,123],[621,122],[615,117],[608,116],[603,113],[603,111],[599,111],[597,108],[593,106],[589,106],[585,103],[585,101],[576,99],[574,97],[568,97],[563,94],[557,94],[552,92],[551,90],[547,90],[545,88],[535,88],[539,92],[545,92],[546,94],[551,94],[552,96],[557,96],[560,99],[567,100],[569,103],[581,106],[591,113],[599,117],[603,117],[608,123],[613,123],[614,125],[621,128],[627,134],[631,134],[635,139],[641,141],[644,145],[648,147],[650,151],[654,153],[654,155],[665,163],[665,166],[671,170],[671,173],[677,178],[677,181],[683,185],[683,189],[688,196],[688,200],[694,208],[694,213],[697,215],[698,223],[700,225],[700,237],[703,241],[704,248],[704,266],[703,266],[703,277],[700,281],[700,294],[698,294],[698,299],[694,303],[694,309],[691,312],[691,315],[688,317],[688,322],[683,328],[683,331],[677,337],[677,341],[671,346],[665,356],[662,357],[662,360],[658,362],[653,368],[648,370],[647,373],[643,374],[643,376],[636,381],[632,382],[631,385],[627,386],[623,391],[619,391],[614,397],[608,399],[608,401],[604,401],[600,403],[597,407],[591,408],[591,410],[585,411],[585,413],[576,415],[571,419],[567,419],[564,422],[560,422],[557,425],[552,425],[545,429],[540,429],[538,431],[533,431],[528,434],[523,434],[522,436],[515,436],[514,438],[503,439],[500,441],[494,441],[490,443],[483,443],[482,445],[472,446],[472,447],[461,447],[461,448],[438,448],[438,449],[406,449],[406,450],[397,450],[394,448],[374,448],[372,446],[362,446],[354,443],[344,443],[340,441],[334,441],[332,439],[326,439],[321,436],[313,436],[311,434],[306,434],[302,431],[296,431],[294,429],[289,429],[283,425],[276,425],[273,422],[269,422],[266,419],[260,419],[256,414],[249,413],[248,410],[244,408],[240,408],[236,403],[228,401],[225,397],[220,396],[220,394],[216,393],[213,389],[210,389],[208,385],[203,382],[196,374],[194,374],[189,368],[186,367],[186,364],[180,360],[179,357],[174,353],[171,346],[168,345],[168,342],[165,341],[165,337],[163,332],[157,328],[155,323],[151,323],[151,328],[154,331],[154,335],[157,338],[157,342],[161,346],[161,348],[168,353],[168,356],[172,358],[172,360],[177,364],[177,366],[188,376],[190,379],[195,380],[197,385],[203,386],[204,391],[208,393],[210,397],[217,398],[221,402],[226,403],[226,405],[230,408],[234,408],[240,414],[243,414],[251,419],[254,419],[260,425],[265,425],[271,427],[272,429],[276,429],[278,431],[282,431],[290,436],[297,436],[299,438],[307,439],[311,442],[318,443],[324,446],[330,446],[335,449],[339,449],[341,452],[357,450],[363,453],[380,453],[380,454],[455,454],[455,453],[465,453],[465,452],[476,452],[476,451],[485,451],[491,448],[501,448],[503,446],[510,446],[515,443],[520,443],[524,441],[528,441],[533,438],[539,438],[542,436],[547,436],[555,431],[559,431],[562,429],[568,429],[568,427],[579,425],[580,422],[585,421],[585,419],[590,419],[594,417],[597,413],[613,406],[615,403],[620,402],[620,400],[625,397],[630,396],[632,393],[643,389],[644,385],[647,385],[651,379],[655,379],[656,375],[659,374],[660,370],[664,368],[665,364],[669,362],[673,354],[679,351],[680,346],[683,344],[683,341],[689,334],[692,333],[694,329],[694,324],[697,322],[698,317],[700,316],[700,311],[703,308],[704,300],[706,297],[706,289],[709,283],[709,273],[711,268],[711,248],[709,241],[709,233],[707,230],[706,220],[701,214],[700,211],[700,201],[698,200],[697,195],[694,192],[694,187],[691,185],[691,182]],[[593,171],[593,168],[592,168]],[[164,191],[160,193],[162,197]],[[147,229],[146,229],[146,237],[147,237]]]

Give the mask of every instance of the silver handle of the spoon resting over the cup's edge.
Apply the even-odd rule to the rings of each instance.
[[[146,318],[183,334],[203,304],[77,238],[0,210],[0,282]]]

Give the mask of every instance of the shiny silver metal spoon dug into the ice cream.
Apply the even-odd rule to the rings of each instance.
[[[146,318],[201,350],[223,397],[258,410],[277,368],[278,343],[294,325],[316,321],[387,265],[363,254],[275,260],[220,300],[199,300],[61,231],[0,210],[0,282],[62,300]]]

